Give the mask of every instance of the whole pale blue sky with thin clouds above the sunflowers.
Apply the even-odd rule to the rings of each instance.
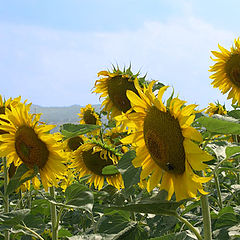
[[[0,94],[42,106],[98,104],[97,72],[139,69],[205,107],[211,50],[239,37],[239,0],[0,0]]]

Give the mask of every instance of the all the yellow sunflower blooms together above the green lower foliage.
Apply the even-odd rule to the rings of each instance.
[[[240,104],[240,40],[230,51],[219,48],[221,52],[212,52],[216,56],[210,69],[212,85],[223,94],[229,92],[228,99],[236,107]],[[130,67],[123,71],[113,67],[98,77],[93,92],[103,99],[102,110],[97,113],[90,104],[80,109],[80,125],[95,126],[85,134],[50,133],[55,126],[41,122],[41,114],[32,114],[31,104],[20,97],[3,101],[0,96],[0,156],[7,169],[14,169],[9,176],[24,164],[29,169],[24,177],[35,168],[38,171],[20,186],[22,190],[30,189],[30,182],[36,189],[42,184],[45,191],[53,186],[65,190],[83,177],[98,190],[106,184],[121,190],[121,173],[117,168],[105,170],[116,167],[128,150],[135,150],[132,164],[141,168],[141,188],[165,190],[167,200],[174,195],[176,201],[196,198],[198,192],[206,195],[203,183],[212,178],[205,173],[213,157],[204,151],[202,134],[193,127],[196,114],[204,110],[173,93],[164,98],[169,86],[147,81]],[[211,103],[205,114],[227,111],[224,105]]]

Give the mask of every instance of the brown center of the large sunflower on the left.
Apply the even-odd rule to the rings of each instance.
[[[42,169],[48,161],[49,151],[46,144],[28,126],[18,128],[15,135],[15,149],[19,158],[29,167],[37,165]]]

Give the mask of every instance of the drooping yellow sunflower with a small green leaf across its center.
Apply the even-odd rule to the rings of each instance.
[[[100,143],[84,143],[73,153],[72,167],[79,174],[79,179],[90,175],[87,183],[94,184],[95,188],[101,190],[104,179],[108,184],[121,189],[124,187],[122,175],[120,173],[104,175],[102,170],[109,165],[115,165],[119,160],[119,155],[113,150]]]

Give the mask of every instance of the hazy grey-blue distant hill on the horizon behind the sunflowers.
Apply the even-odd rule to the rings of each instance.
[[[96,112],[100,112],[100,104],[92,105]],[[42,107],[31,106],[31,113],[42,113],[41,121],[47,124],[62,125],[64,123],[79,123],[78,113],[84,106],[72,105],[69,107]]]

